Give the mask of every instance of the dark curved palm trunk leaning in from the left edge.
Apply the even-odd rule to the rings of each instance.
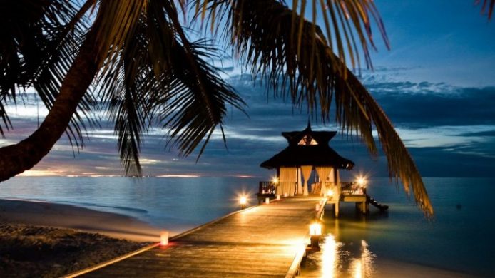
[[[98,55],[96,37],[97,31],[93,26],[63,80],[53,107],[39,128],[29,138],[0,148],[0,182],[33,168],[65,132],[78,103],[98,73],[102,56]]]

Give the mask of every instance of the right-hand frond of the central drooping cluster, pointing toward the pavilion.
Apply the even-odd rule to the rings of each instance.
[[[183,155],[192,153],[207,136],[199,158],[217,125],[220,125],[223,134],[222,123],[227,112],[225,105],[230,104],[244,111],[245,103],[234,89],[218,76],[218,68],[205,61],[215,49],[208,47],[206,41],[190,43],[180,26],[177,10],[166,11],[178,34],[178,40],[173,43],[176,48],[173,49],[174,55],[171,57],[172,73],[188,89],[174,91],[172,98],[167,100],[170,101],[170,107],[162,111],[162,118],[168,119],[165,126],[172,130],[170,136],[178,143]],[[223,138],[225,142],[224,134]]]

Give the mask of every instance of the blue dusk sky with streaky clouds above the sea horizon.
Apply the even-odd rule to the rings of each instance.
[[[424,177],[495,177],[495,19],[488,21],[469,0],[377,0],[391,50],[374,39],[373,70],[362,83],[389,115]],[[238,176],[267,179],[260,163],[280,152],[282,131],[302,130],[305,110],[293,110],[267,95],[260,83],[227,69],[225,78],[248,103],[249,117],[230,110],[225,119],[227,146],[215,132],[205,153],[188,158],[165,148],[164,131],[150,130],[142,148],[144,175]],[[0,145],[16,143],[34,131],[39,113],[34,98],[8,107],[14,130]],[[314,130],[339,130],[310,119]],[[372,157],[357,138],[337,134],[330,146],[353,160],[354,172],[387,176],[382,155]],[[123,175],[111,128],[90,130],[85,148],[74,150],[64,136],[41,163],[23,175]]]

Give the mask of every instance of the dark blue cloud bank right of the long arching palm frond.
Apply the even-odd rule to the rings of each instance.
[[[495,87],[366,81],[365,85],[397,125],[495,125]]]

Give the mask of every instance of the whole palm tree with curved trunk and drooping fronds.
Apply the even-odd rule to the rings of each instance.
[[[141,138],[150,125],[168,130],[168,143],[182,155],[202,142],[203,153],[213,130],[222,130],[227,105],[243,110],[245,103],[207,62],[217,50],[205,39],[188,38],[180,11],[187,16],[192,9],[193,21],[209,26],[277,96],[290,96],[325,121],[334,101],[342,130],[359,134],[377,154],[374,125],[390,177],[402,180],[431,216],[404,143],[346,64],[360,65],[361,46],[371,67],[373,20],[387,43],[376,7],[371,0],[306,2],[292,1],[290,9],[282,0],[0,1],[0,134],[12,128],[5,105],[25,94],[19,88],[33,87],[49,109],[32,135],[0,148],[0,181],[36,165],[63,133],[82,145],[86,124],[98,125],[91,120],[97,103],[115,123],[127,173],[141,173]],[[494,3],[484,0],[489,16]],[[309,4],[312,21],[304,18]]]

